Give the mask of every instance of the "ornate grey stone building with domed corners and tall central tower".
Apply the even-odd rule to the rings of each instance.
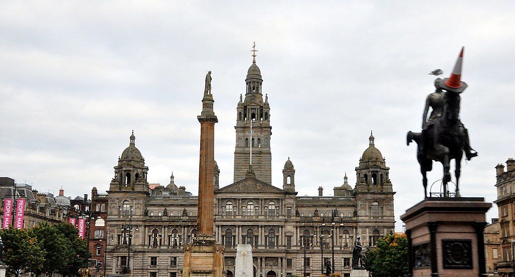
[[[373,247],[394,231],[389,168],[374,137],[355,169],[354,188],[345,176],[334,196],[324,196],[321,187],[314,196],[298,196],[289,158],[283,183],[272,186],[270,105],[255,60],[245,82],[235,115],[234,182],[220,188],[216,165],[213,180],[214,235],[226,248],[227,276],[234,275],[238,244],[252,246],[254,272],[248,276],[319,276],[328,262],[335,272],[350,276],[356,236]],[[197,234],[198,197],[178,187],[173,175],[167,186],[149,187],[147,171],[132,134],[107,192],[107,273],[122,273],[128,266],[133,276],[181,276],[183,246]]]

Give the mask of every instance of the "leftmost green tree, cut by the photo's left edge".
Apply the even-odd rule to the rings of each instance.
[[[44,251],[37,240],[30,237],[25,229],[2,229],[0,237],[4,243],[2,261],[8,266],[9,274],[18,276],[24,269],[36,272],[41,270],[44,262]]]

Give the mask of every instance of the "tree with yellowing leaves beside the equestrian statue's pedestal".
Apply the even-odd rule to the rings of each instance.
[[[408,239],[405,234],[393,234],[377,240],[364,258],[365,267],[374,277],[400,277],[408,274]]]

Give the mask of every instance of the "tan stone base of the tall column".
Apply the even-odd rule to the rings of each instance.
[[[183,277],[225,277],[225,247],[212,236],[198,236],[184,247]]]

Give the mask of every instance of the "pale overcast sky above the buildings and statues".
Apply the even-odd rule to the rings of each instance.
[[[197,194],[204,77],[212,71],[215,159],[232,183],[239,94],[256,42],[272,125],[272,184],[287,157],[298,195],[356,182],[370,130],[399,215],[423,199],[416,146],[427,94],[465,46],[461,120],[479,156],[463,196],[496,198],[515,156],[513,2],[24,2],[0,4],[0,176],[65,195],[105,191],[129,144],[149,182]],[[435,164],[430,183],[441,179]],[[488,218],[497,217],[496,208]]]

